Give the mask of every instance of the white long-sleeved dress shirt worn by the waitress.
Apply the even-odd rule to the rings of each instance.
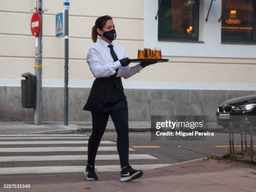
[[[123,47],[113,42],[111,44],[113,45],[113,49],[115,54],[118,56],[118,59],[126,57]],[[115,74],[115,69],[118,68],[116,77],[123,77],[127,79],[134,74],[139,73],[141,69],[143,69],[140,64],[137,64],[134,67],[129,67],[129,65],[122,67],[120,61],[114,62],[108,45],[108,42],[100,38],[100,41],[97,41],[89,48],[87,63],[89,64],[90,70],[95,78],[109,77],[110,75]]]

